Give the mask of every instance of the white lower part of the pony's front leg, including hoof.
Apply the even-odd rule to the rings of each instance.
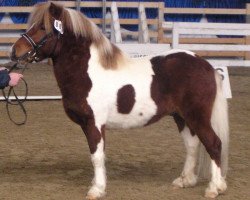
[[[92,182],[93,185],[88,191],[88,195],[99,198],[105,195],[106,189],[106,169],[103,139],[101,139],[97,145],[96,152],[91,155],[91,160],[94,166],[94,179]]]

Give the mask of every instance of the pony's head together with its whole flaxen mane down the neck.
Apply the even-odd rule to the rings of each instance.
[[[67,36],[67,37],[66,37]],[[29,28],[16,41],[11,52],[13,61],[41,61],[56,56],[62,41],[82,37],[98,49],[104,68],[116,68],[123,56],[100,29],[80,12],[52,2],[40,3],[29,17]]]

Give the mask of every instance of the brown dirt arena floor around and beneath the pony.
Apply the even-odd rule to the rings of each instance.
[[[250,69],[230,69],[228,190],[218,199],[250,199]],[[59,95],[52,68],[33,65],[25,72],[30,95]],[[64,114],[61,101],[29,101],[28,122],[17,127],[0,102],[0,199],[80,200],[93,169],[80,127]],[[14,112],[14,111],[13,111]],[[20,117],[15,114],[15,117]],[[106,132],[107,200],[203,198],[207,182],[173,189],[185,149],[170,117],[143,129]]]

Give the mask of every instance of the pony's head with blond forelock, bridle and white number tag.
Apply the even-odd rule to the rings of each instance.
[[[30,15],[26,33],[12,47],[11,60],[32,62],[56,53],[63,34],[65,9],[54,3],[37,4]]]

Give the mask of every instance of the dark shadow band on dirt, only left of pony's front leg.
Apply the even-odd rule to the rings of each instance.
[[[60,181],[71,185],[89,186],[93,178],[93,167],[90,161],[70,162],[65,160],[54,162],[13,161],[5,166],[0,165],[0,179],[7,182],[38,183]]]

